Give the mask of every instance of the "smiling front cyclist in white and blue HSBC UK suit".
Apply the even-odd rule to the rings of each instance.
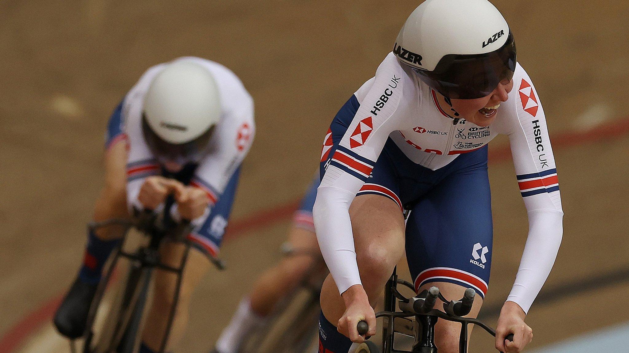
[[[486,144],[499,133],[509,137],[530,227],[496,348],[520,352],[533,337],[524,319],[554,264],[563,212],[542,105],[498,9],[486,0],[420,4],[328,133],[313,209],[331,273],[320,352],[362,342],[359,320],[375,333],[374,300],[404,248],[418,293],[438,286],[448,298],[465,288],[485,295],[493,238]],[[403,210],[411,211],[406,225]],[[459,351],[459,329],[437,323],[440,352]]]

